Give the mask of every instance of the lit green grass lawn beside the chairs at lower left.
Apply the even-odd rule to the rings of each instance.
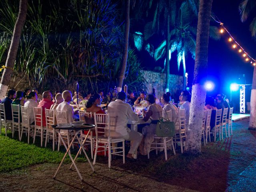
[[[35,144],[31,144],[33,143],[32,140],[28,144],[26,136],[23,136],[22,142],[20,142],[17,134],[12,138],[11,132],[8,132],[6,137],[2,128],[2,134],[0,134],[0,172],[10,172],[34,164],[61,162],[65,151],[63,146],[60,152],[52,151],[52,144],[49,144],[47,148],[41,148],[39,142],[38,137]],[[76,154],[75,150],[73,154]],[[81,157],[78,158],[78,161],[86,161],[86,159]],[[71,162],[68,155],[65,162]]]

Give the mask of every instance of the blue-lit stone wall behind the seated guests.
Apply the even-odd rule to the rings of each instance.
[[[156,88],[156,97],[160,99],[164,94],[166,74],[145,70],[143,70],[142,73],[144,74],[147,92],[152,93],[152,89]],[[175,101],[178,99],[177,97],[182,90],[182,84],[182,76],[170,74],[169,92],[172,94],[172,98],[175,98]]]

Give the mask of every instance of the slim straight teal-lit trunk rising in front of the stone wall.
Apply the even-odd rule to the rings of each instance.
[[[166,19],[166,85],[165,92],[169,92],[170,84],[170,59],[169,59],[169,50],[170,50],[170,0],[167,0],[167,19]]]

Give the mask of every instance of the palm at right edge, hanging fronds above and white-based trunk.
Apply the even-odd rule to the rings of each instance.
[[[244,0],[239,5],[239,11],[241,15],[241,21],[244,22],[247,20],[248,15],[256,7],[256,0]],[[252,37],[256,35],[256,17],[252,20],[250,24],[250,31]],[[253,76],[252,76],[252,91],[251,91],[251,100],[250,100],[250,122],[249,129],[256,130],[256,66],[254,66]]]

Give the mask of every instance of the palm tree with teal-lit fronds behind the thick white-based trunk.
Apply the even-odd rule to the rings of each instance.
[[[177,6],[173,11],[171,20],[170,32],[170,49],[169,56],[173,52],[177,52],[177,65],[180,70],[180,63],[182,62],[183,68],[183,90],[186,88],[186,61],[185,58],[189,55],[195,59],[196,50],[196,19],[197,19],[197,6],[193,0],[184,1]],[[172,6],[174,7],[174,6]],[[176,12],[176,14],[175,14]],[[218,29],[215,26],[210,26],[210,37],[219,39]],[[162,58],[166,53],[166,40],[164,40],[154,52],[155,60]]]

